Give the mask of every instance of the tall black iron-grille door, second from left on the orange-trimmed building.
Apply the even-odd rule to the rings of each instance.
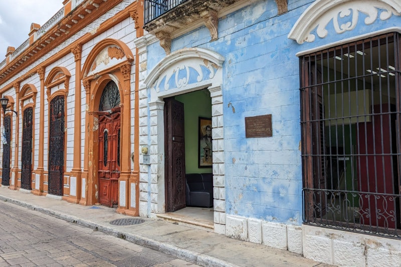
[[[22,129],[21,188],[32,190],[32,122],[33,108],[24,110]]]

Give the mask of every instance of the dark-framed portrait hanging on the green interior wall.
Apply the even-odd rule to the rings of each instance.
[[[213,163],[212,119],[199,117],[198,167],[211,168]]]

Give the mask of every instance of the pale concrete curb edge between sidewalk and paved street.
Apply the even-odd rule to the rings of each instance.
[[[225,260],[222,260],[222,259],[219,259],[219,258],[216,258],[213,256],[209,256],[209,255],[202,254],[202,253],[199,253],[196,251],[180,248],[180,247],[177,247],[177,246],[174,246],[174,245],[171,245],[168,243],[160,242],[157,240],[153,240],[153,239],[150,239],[150,238],[147,238],[144,236],[135,235],[135,234],[124,232],[124,231],[119,231],[119,230],[113,229],[111,227],[106,227],[104,225],[100,225],[95,222],[86,221],[86,220],[80,219],[80,218],[72,216],[72,215],[68,215],[68,214],[54,211],[54,210],[47,209],[47,208],[42,208],[40,206],[35,206],[35,205],[32,205],[32,204],[24,202],[24,201],[12,199],[12,198],[5,197],[2,195],[0,195],[0,200],[15,204],[15,205],[19,205],[22,207],[26,207],[28,209],[38,211],[43,214],[50,215],[50,216],[53,216],[53,217],[56,217],[56,218],[59,218],[59,219],[62,219],[62,220],[65,220],[65,221],[68,221],[71,223],[75,223],[80,226],[93,229],[94,231],[100,231],[100,232],[103,232],[108,235],[122,238],[129,242],[132,242],[132,243],[135,243],[135,244],[138,244],[141,246],[145,246],[145,247],[151,248],[153,250],[157,250],[157,251],[163,252],[167,255],[171,255],[171,256],[177,257],[179,259],[183,259],[185,261],[195,263],[198,265],[222,266],[222,267],[238,266],[231,262],[227,262]]]

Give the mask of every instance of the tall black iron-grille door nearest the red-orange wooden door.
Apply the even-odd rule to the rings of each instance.
[[[49,194],[63,195],[64,178],[64,96],[50,102]]]

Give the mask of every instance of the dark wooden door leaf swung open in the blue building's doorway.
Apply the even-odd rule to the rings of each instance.
[[[184,104],[165,99],[165,194],[166,212],[186,206]]]

